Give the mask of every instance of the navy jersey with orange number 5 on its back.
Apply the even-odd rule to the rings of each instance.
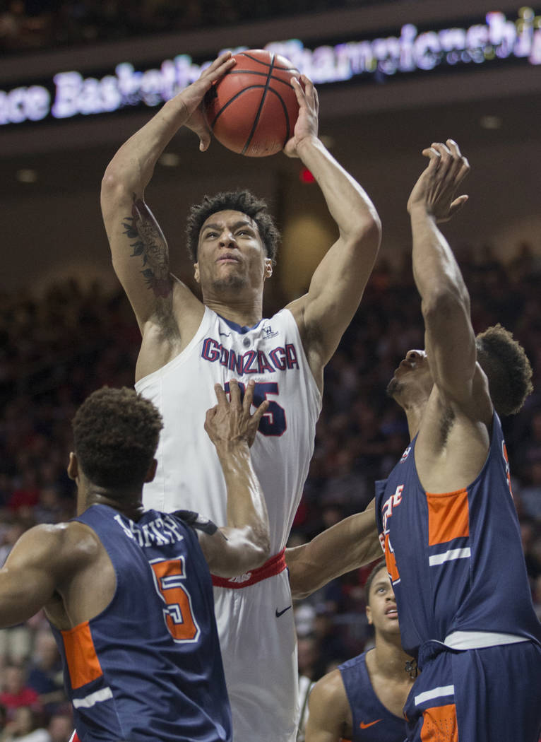
[[[210,572],[193,528],[156,510],[133,522],[107,505],[76,520],[116,572],[104,611],[53,627],[81,742],[230,741]]]

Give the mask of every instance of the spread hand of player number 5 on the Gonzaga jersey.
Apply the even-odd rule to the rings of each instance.
[[[240,387],[236,379],[229,382],[231,401],[225,395],[225,391],[219,384],[214,385],[214,391],[218,404],[211,407],[205,416],[205,430],[208,437],[217,447],[234,443],[253,444],[256,438],[257,427],[262,416],[268,410],[268,401],[259,405],[255,413],[250,415],[250,407],[253,402],[254,381],[248,383],[244,399],[241,401]]]

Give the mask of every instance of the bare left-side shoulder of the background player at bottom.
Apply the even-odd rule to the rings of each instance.
[[[305,742],[339,742],[351,734],[351,709],[339,670],[318,680],[308,697]]]

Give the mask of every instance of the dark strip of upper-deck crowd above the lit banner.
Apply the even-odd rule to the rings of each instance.
[[[1,0],[0,50],[95,44],[359,7],[376,0]]]

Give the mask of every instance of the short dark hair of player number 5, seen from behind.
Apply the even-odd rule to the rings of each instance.
[[[75,453],[90,482],[143,485],[163,427],[152,402],[127,387],[103,387],[84,400],[72,427]]]

